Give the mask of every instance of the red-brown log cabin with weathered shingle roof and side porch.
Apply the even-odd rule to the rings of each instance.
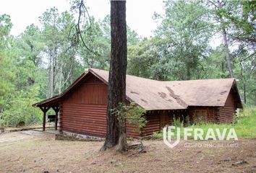
[[[90,68],[62,94],[35,103],[43,111],[56,112],[55,128],[87,137],[106,135],[108,71]],[[232,123],[242,108],[235,79],[200,79],[189,81],[156,81],[127,75],[127,102],[136,102],[146,110],[145,128],[136,130],[127,125],[127,135],[134,138],[150,136],[175,118],[197,122]],[[59,115],[59,116],[58,116]]]

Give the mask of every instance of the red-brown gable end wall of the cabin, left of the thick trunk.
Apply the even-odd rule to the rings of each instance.
[[[106,84],[91,76],[64,100],[62,130],[105,137],[106,98]]]

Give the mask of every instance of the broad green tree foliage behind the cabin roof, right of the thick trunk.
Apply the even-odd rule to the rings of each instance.
[[[200,1],[165,1],[155,37],[128,49],[128,73],[158,80],[197,79],[213,30]]]

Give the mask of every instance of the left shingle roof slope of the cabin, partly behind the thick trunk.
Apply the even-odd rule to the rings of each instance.
[[[96,76],[100,76],[104,81],[108,81],[108,71],[95,68],[90,68],[90,71]],[[177,102],[171,94],[166,94],[166,97],[160,97],[161,92],[168,93],[168,89],[161,84],[161,81],[127,75],[127,97],[145,110],[179,110],[187,108],[187,104]]]

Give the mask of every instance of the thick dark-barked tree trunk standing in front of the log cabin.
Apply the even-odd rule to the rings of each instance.
[[[106,140],[101,151],[116,146],[119,143],[119,137],[124,139],[126,133],[125,130],[120,130],[120,128],[125,129],[125,123],[119,124],[118,118],[111,111],[119,103],[125,104],[126,101],[127,24],[125,4],[126,1],[111,1],[111,61],[108,77],[107,128]]]

